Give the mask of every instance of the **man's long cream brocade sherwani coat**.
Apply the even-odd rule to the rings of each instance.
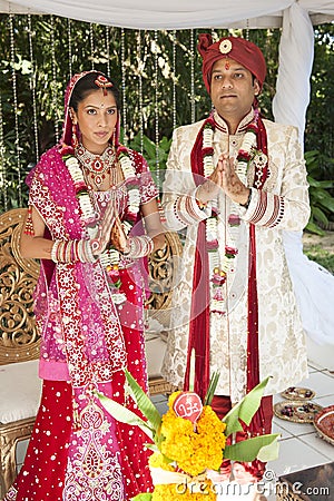
[[[235,135],[216,128],[214,160],[228,151],[237,157],[245,134],[246,117]],[[224,127],[222,118],[215,117]],[[298,144],[297,129],[264,120],[267,131],[268,177],[263,189],[252,188],[247,209],[240,208],[236,247],[238,254],[227,276],[227,315],[210,313],[210,372],[220,371],[217,394],[230,395],[233,402],[246,392],[247,365],[247,282],[249,223],[256,226],[256,264],[259,324],[259,379],[273,376],[267,394],[296,385],[307,376],[304,332],[282,244],[282,230],[301,230],[310,217],[306,169]],[[186,369],[189,317],[198,223],[210,215],[210,208],[199,209],[195,203],[195,181],[190,153],[203,121],[175,130],[164,183],[163,205],[167,227],[186,228],[183,262],[173,292],[171,325],[163,374],[173,384],[181,385]],[[253,186],[254,166],[248,169],[248,186]],[[190,200],[190,202],[189,202]],[[219,254],[228,244],[229,200],[218,196]],[[191,210],[187,209],[191,205]]]

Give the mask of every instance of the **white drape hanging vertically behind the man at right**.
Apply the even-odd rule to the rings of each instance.
[[[302,145],[310,102],[313,56],[314,36],[308,12],[299,3],[294,3],[284,11],[283,17],[273,114],[275,121],[298,127]],[[302,232],[282,232],[282,236],[307,336],[307,348],[312,347],[312,340],[317,345],[325,346],[325,352],[333,351],[334,315],[330,302],[334,295],[334,276],[303,254]],[[314,360],[312,353],[308,353],[308,358]],[[320,363],[323,364],[323,361]]]

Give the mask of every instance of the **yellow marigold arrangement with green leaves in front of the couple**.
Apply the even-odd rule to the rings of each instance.
[[[226,445],[226,436],[240,430],[240,421],[249,425],[257,411],[264,389],[269,380],[266,377],[256,385],[220,422],[209,405],[215,393],[219,373],[213,375],[205,405],[194,392],[175,392],[169,397],[169,410],[161,418],[153,406],[149,397],[128,371],[127,382],[134,392],[134,399],[147,418],[139,420],[131,411],[124,409],[117,402],[98,394],[102,405],[121,422],[138,421],[154,442],[147,444],[155,450],[149,458],[155,490],[153,493],[138,493],[134,501],[203,501],[216,500],[216,489],[209,480],[209,470],[219,470],[223,456],[237,461],[250,461],[266,458],[265,461],[277,459],[278,434],[255,436],[236,444]],[[180,498],[181,497],[181,498]]]

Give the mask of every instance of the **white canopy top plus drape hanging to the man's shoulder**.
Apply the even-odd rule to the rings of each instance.
[[[312,23],[334,19],[327,0],[0,0],[7,13],[48,13],[134,29],[279,27],[279,68],[273,111],[276,121],[298,127],[301,139],[310,100]]]

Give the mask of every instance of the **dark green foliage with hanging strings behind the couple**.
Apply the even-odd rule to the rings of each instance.
[[[1,14],[1,210],[26,205],[24,177],[38,156],[59,138],[63,90],[70,75],[78,71],[98,69],[116,80],[124,92],[124,141],[141,150],[151,167],[158,159],[164,168],[174,126],[198,120],[212,107],[196,50],[200,31],[208,30],[122,31],[53,16]],[[216,30],[214,35],[230,32]],[[232,33],[246,36],[242,30]],[[279,36],[278,29],[249,31],[249,39],[263,49],[267,61],[261,97],[267,118],[272,118]],[[333,24],[315,28],[305,150],[321,151],[312,174],[317,180],[334,178],[330,160],[334,149],[333,40]]]

